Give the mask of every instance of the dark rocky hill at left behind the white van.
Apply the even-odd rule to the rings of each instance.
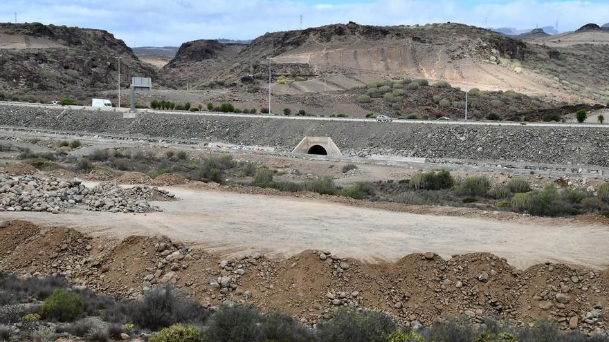
[[[8,95],[87,97],[116,88],[132,76],[156,78],[131,48],[104,30],[43,25],[0,24],[0,91]],[[43,96],[43,97],[44,97]],[[40,96],[38,96],[40,97]]]

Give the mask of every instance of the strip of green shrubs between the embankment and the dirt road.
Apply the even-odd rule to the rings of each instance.
[[[278,170],[244,160],[234,160],[227,153],[189,155],[186,151],[168,150],[153,153],[145,150],[95,150],[78,158],[61,150],[80,146],[78,140],[62,141],[55,153],[31,153],[24,150],[18,158],[40,170],[68,169],[80,173],[93,170],[110,175],[125,172],[145,173],[156,178],[164,173],[178,173],[189,180],[217,182],[236,187],[253,186],[285,192],[309,191],[356,200],[397,202],[407,205],[442,205],[484,210],[515,211],[534,216],[576,216],[584,213],[609,217],[609,183],[594,191],[585,188],[557,187],[547,184],[534,189],[524,178],[505,184],[491,184],[480,175],[455,179],[449,171],[418,172],[408,179],[381,182],[356,182],[343,187],[331,178],[285,180]],[[345,164],[341,173],[357,169]]]

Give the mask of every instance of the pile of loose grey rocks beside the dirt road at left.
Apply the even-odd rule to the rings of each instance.
[[[146,213],[161,211],[148,200],[172,200],[174,196],[147,187],[122,188],[102,184],[89,189],[80,180],[57,180],[35,175],[0,177],[0,211],[60,213],[70,207],[91,211]]]

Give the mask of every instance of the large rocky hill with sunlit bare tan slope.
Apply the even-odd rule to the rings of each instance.
[[[531,39],[547,36],[532,34]],[[225,47],[217,42],[206,45],[217,51]],[[408,77],[446,80],[462,88],[545,94],[567,102],[604,103],[609,98],[601,82],[609,76],[603,57],[606,53],[595,46],[584,50],[586,53],[572,46],[529,44],[459,23],[365,26],[349,22],[267,33],[222,55],[179,53],[176,60],[180,67],[167,66],[164,72],[172,79],[197,75],[189,80],[195,88],[210,84],[263,86],[269,73],[268,58],[272,57],[273,79],[278,81],[281,75],[287,78],[275,87],[278,94],[340,91],[378,79]],[[199,55],[196,58],[206,61],[194,59]],[[574,70],[576,65],[584,67]]]

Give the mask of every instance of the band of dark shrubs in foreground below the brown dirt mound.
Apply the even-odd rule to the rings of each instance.
[[[607,342],[547,321],[515,327],[487,318],[474,325],[448,316],[430,327],[411,330],[383,312],[331,310],[316,327],[277,310],[261,312],[248,303],[211,309],[172,287],[154,287],[141,298],[113,298],[71,289],[64,278],[17,278],[0,274],[2,341],[149,342]]]

